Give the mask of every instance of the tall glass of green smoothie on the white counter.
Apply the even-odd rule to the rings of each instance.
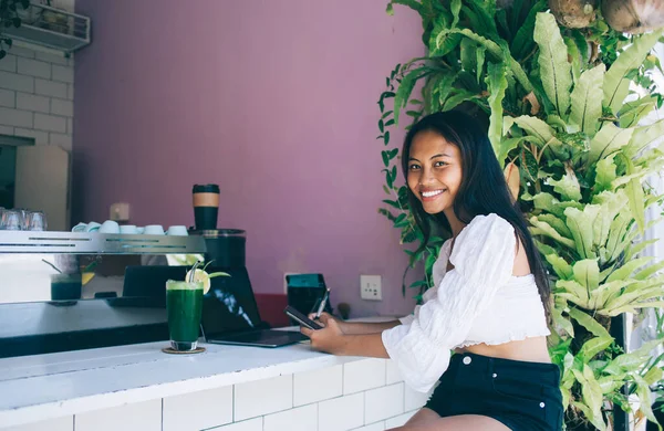
[[[170,347],[175,350],[196,349],[203,309],[203,283],[168,280],[166,309]]]

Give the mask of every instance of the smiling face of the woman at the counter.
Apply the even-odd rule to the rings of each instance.
[[[459,148],[432,130],[413,138],[408,155],[408,188],[429,214],[452,210],[461,185]]]

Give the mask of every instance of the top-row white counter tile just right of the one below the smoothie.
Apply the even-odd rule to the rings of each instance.
[[[236,385],[235,420],[273,413],[293,407],[293,376],[286,375]]]

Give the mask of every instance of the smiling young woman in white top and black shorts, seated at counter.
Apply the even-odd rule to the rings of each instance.
[[[323,314],[323,329],[302,333],[323,351],[391,358],[414,390],[435,387],[398,430],[560,430],[548,278],[486,133],[459,112],[428,115],[408,132],[402,167],[423,246],[432,227],[452,232],[434,286],[400,320]]]

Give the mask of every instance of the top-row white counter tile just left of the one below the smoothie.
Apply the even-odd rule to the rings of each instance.
[[[76,414],[74,429],[76,431],[162,431],[162,400]]]

